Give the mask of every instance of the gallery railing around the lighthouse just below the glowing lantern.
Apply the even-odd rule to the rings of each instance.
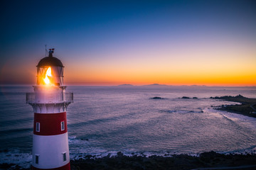
[[[73,103],[73,93],[47,93],[36,99],[35,93],[26,93],[26,103]]]

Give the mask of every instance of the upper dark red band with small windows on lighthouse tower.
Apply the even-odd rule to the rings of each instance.
[[[61,122],[64,122],[63,128]],[[36,128],[36,123],[40,123]],[[67,114],[63,113],[34,113],[33,134],[35,135],[60,135],[68,132]]]

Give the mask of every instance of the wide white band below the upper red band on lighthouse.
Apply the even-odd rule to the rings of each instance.
[[[33,135],[34,167],[54,169],[68,164],[69,160],[68,132],[50,136]]]

